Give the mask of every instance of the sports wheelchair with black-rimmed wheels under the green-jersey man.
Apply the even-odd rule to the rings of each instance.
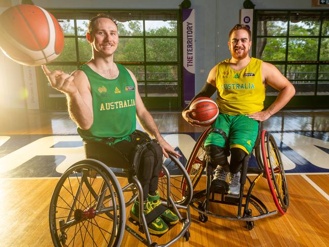
[[[136,177],[138,157],[153,142],[147,134],[138,130],[136,133],[145,140],[138,143],[129,170],[109,168],[109,164],[85,159],[75,163],[62,174],[53,192],[49,210],[50,232],[55,246],[120,246],[125,229],[148,246],[169,246],[182,236],[189,240],[192,183],[185,167],[171,154],[168,159],[164,159],[159,174],[158,191],[161,205],[152,211],[155,213],[140,214],[140,223],[129,218],[135,228],[126,224],[126,207],[137,197],[139,201],[143,201],[142,186]],[[121,164],[129,163],[115,148],[108,155],[116,156],[116,160],[121,157]],[[120,164],[114,165],[120,167]],[[122,178],[121,183],[117,177]],[[128,178],[128,184],[121,188],[121,185],[126,183],[124,178]],[[187,183],[184,193],[180,188],[181,180]],[[177,225],[181,225],[181,230],[169,242],[158,245],[152,241],[147,226],[167,208],[178,216]],[[143,212],[143,203],[140,203],[139,210]],[[145,238],[133,228],[138,228],[145,234]]]

